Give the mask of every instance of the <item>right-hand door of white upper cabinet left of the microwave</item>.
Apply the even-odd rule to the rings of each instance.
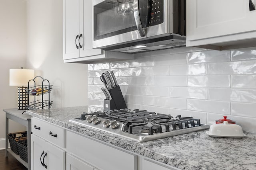
[[[82,37],[79,39],[82,48],[80,49],[80,57],[100,55],[100,49],[92,49],[92,0],[80,1],[80,33]]]

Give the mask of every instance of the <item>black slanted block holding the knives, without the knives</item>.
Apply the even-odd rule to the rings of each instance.
[[[112,97],[112,100],[114,102],[114,106],[110,104],[110,109],[111,110],[114,110],[114,109],[126,109],[127,106],[125,104],[125,101],[124,101],[124,96],[121,92],[121,89],[120,89],[120,86],[116,86],[115,88],[112,88],[112,89],[108,89],[111,97]],[[105,100],[104,100],[105,101]],[[110,100],[111,101],[111,100]],[[113,106],[113,107],[111,107]],[[104,109],[105,109],[105,106],[104,106]]]

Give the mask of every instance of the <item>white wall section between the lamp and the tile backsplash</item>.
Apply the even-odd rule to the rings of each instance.
[[[27,1],[27,65],[53,85],[52,107],[85,106],[87,64],[62,60],[62,6],[62,0]]]

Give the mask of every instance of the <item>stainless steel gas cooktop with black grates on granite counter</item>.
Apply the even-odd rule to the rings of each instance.
[[[200,119],[193,117],[178,115],[174,118],[171,115],[138,109],[82,113],[81,117],[69,121],[138,142],[162,139],[210,127],[201,124]]]

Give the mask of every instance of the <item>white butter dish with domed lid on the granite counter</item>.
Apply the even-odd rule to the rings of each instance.
[[[212,137],[231,138],[241,138],[246,136],[243,133],[241,126],[236,124],[229,124],[228,121],[211,125],[209,131],[206,131],[206,134]]]

